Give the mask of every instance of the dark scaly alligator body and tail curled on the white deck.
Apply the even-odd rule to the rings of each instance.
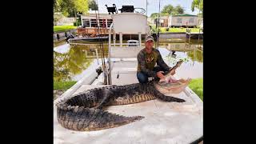
[[[179,64],[179,63],[178,63]],[[177,64],[177,65],[178,65]],[[178,66],[174,66],[176,69]],[[58,102],[58,122],[70,130],[90,131],[122,126],[141,120],[142,116],[126,117],[103,110],[106,106],[126,105],[145,102],[158,98],[165,102],[185,102],[160,93],[154,81],[146,84],[130,84],[126,86],[105,86],[86,90],[72,98]]]

